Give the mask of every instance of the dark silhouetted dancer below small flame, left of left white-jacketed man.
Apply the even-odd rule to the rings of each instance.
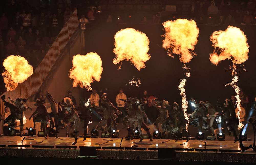
[[[85,106],[86,102],[81,101],[82,106],[77,107],[77,111],[81,112],[81,115],[79,116],[80,119],[84,120],[84,125],[83,125],[83,141],[86,140],[86,136],[88,135],[88,124],[92,123],[92,118],[91,118],[91,110]]]

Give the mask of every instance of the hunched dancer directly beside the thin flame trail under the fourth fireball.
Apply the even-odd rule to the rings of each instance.
[[[188,132],[187,132],[187,128],[186,125],[188,124],[188,120],[185,118],[184,116],[184,110],[182,109],[182,107],[180,107],[177,103],[173,102],[173,104],[170,106],[171,108],[175,109],[175,111],[179,111],[178,113],[178,129],[180,129],[180,127],[182,126],[182,131],[185,132],[186,134],[186,142],[188,142]]]

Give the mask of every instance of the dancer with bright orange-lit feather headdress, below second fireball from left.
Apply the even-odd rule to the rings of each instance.
[[[67,110],[68,114],[64,117],[64,119],[62,120],[62,123],[64,123],[64,126],[66,127],[66,134],[68,137],[70,137],[70,133],[72,131],[75,134],[75,142],[72,144],[72,145],[75,145],[78,139],[78,132],[79,132],[78,128],[81,124],[80,118],[74,105],[71,104],[70,98],[65,97],[64,103],[66,104],[59,103],[59,105],[61,107],[64,107]]]

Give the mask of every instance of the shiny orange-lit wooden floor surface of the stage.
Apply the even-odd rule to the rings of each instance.
[[[6,145],[5,148],[8,148],[8,145],[22,145],[21,141],[24,137],[19,136],[3,136],[0,138],[0,145]],[[32,140],[33,139],[33,140]],[[107,140],[110,140],[107,142]],[[111,141],[113,140],[113,141]],[[204,149],[205,148],[205,140],[170,140],[168,142],[162,143],[163,141],[167,141],[166,139],[153,139],[153,142],[149,139],[143,139],[140,143],[140,139],[133,140],[125,140],[122,141],[121,147],[132,147],[134,145],[138,145],[140,148],[194,148],[194,149]],[[41,142],[42,141],[42,142]],[[23,141],[23,145],[30,145],[28,149],[34,149],[32,145],[44,145],[44,146],[54,146],[52,150],[58,149],[57,146],[72,146],[74,142],[74,138],[58,138],[55,137],[30,137],[26,136]],[[38,143],[40,142],[40,143]],[[103,144],[104,142],[107,142]],[[76,150],[79,150],[79,146],[94,146],[94,147],[120,147],[121,139],[118,138],[87,138],[87,140],[83,141],[83,138],[79,138],[77,140]],[[102,145],[99,145],[102,144]],[[243,141],[244,146],[253,145],[253,141]],[[214,145],[214,146],[213,146]],[[225,150],[240,150],[239,141],[234,143],[233,141],[207,141],[206,149],[225,149]],[[102,150],[102,149],[99,149]],[[196,152],[196,151],[194,151]],[[256,154],[252,149],[248,149],[247,151],[242,151],[240,154]]]

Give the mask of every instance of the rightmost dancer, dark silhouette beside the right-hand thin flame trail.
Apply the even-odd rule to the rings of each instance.
[[[226,126],[229,131],[233,132],[233,136],[235,137],[235,142],[237,142],[238,137],[236,134],[235,126],[239,124],[239,120],[236,117],[236,111],[234,108],[234,104],[230,101],[229,98],[226,99],[226,103],[224,106],[218,104],[218,107],[222,109],[222,113],[216,113],[216,120],[218,124],[226,123]]]

